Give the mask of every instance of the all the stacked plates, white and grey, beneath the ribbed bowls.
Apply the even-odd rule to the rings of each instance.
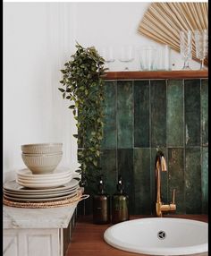
[[[49,175],[33,175],[27,168],[16,172],[17,178],[4,183],[4,198],[9,201],[62,201],[77,195],[79,180],[70,168],[56,168]]]

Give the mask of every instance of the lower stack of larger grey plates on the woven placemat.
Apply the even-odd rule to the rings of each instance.
[[[77,194],[79,181],[72,179],[68,183],[55,188],[30,189],[16,183],[15,180],[4,183],[4,198],[10,201],[61,201]]]

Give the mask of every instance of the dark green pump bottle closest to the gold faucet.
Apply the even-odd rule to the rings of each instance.
[[[116,192],[112,196],[112,223],[129,220],[129,196],[123,191],[122,176],[119,175]]]

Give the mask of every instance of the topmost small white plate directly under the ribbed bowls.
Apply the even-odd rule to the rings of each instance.
[[[69,175],[72,173],[71,168],[69,167],[57,167],[51,174],[46,174],[46,175],[33,175],[30,169],[25,168],[16,171],[17,175],[23,176],[23,177],[30,177],[30,178],[52,178],[52,177],[63,177],[63,175]]]

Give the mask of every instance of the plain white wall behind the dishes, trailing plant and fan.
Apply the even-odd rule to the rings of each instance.
[[[137,32],[148,5],[4,2],[4,172],[25,167],[24,143],[63,142],[61,165],[77,161],[75,122],[58,90],[59,70],[76,40],[84,47],[156,46]],[[181,69],[179,54],[172,53],[172,63]],[[120,69],[115,61],[114,70]],[[134,69],[139,70],[136,62]]]

